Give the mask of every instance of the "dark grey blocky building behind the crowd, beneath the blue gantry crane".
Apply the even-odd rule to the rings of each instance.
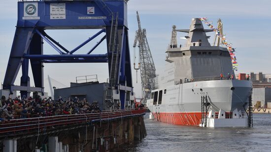
[[[101,110],[103,110],[103,93],[106,83],[86,84],[84,86],[75,86],[70,88],[62,88],[54,90],[54,97],[57,100],[59,96],[63,99],[77,96],[79,99],[86,98],[89,103],[98,102]]]

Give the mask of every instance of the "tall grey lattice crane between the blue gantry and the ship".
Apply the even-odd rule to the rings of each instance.
[[[142,96],[143,96],[142,103],[144,104],[146,103],[147,99],[150,98],[151,91],[156,86],[156,83],[155,83],[156,74],[155,74],[155,66],[152,59],[151,51],[150,51],[149,44],[146,38],[146,29],[141,29],[139,14],[137,11],[136,11],[136,17],[137,17],[137,23],[138,23],[138,30],[136,30],[136,33],[135,33],[135,41],[134,41],[133,47],[135,48],[136,46],[138,46],[140,61],[137,67],[135,67],[135,63],[134,63],[134,69],[136,70],[136,74],[137,74],[137,70],[140,69],[141,87],[142,87]]]

